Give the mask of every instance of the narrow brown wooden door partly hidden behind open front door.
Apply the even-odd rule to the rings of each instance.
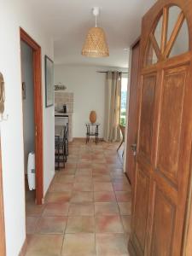
[[[133,44],[131,56],[131,84],[126,151],[126,173],[131,183],[133,172],[136,169],[134,145],[137,144],[137,84],[139,67],[139,45],[140,39],[137,40],[137,43]]]

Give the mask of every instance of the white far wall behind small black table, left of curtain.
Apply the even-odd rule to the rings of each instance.
[[[73,137],[85,137],[85,123],[91,110],[96,110],[101,123],[99,137],[103,137],[105,73],[96,73],[98,67],[55,65],[55,83],[67,86],[73,92]]]

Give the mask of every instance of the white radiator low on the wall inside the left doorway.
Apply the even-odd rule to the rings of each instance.
[[[35,153],[31,152],[28,155],[27,177],[29,190],[35,189]]]

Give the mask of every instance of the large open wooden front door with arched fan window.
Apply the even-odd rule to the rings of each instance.
[[[180,256],[192,142],[192,0],[143,17],[131,255]]]

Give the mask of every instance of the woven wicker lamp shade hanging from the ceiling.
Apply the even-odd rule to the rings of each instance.
[[[87,57],[108,57],[108,44],[101,27],[91,27],[85,39],[82,55]]]

